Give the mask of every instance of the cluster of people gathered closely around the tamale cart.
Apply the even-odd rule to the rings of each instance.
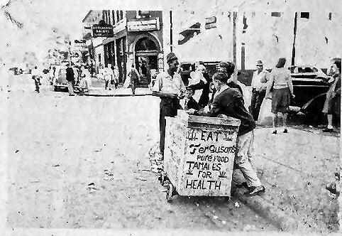
[[[255,121],[252,115],[244,106],[241,87],[232,77],[235,71],[233,63],[222,62],[218,71],[210,79],[197,79],[196,84],[190,83],[185,87],[182,78],[177,73],[178,58],[175,53],[167,55],[167,71],[157,75],[153,85],[153,95],[160,97],[160,159],[164,159],[165,149],[165,117],[174,117],[177,115],[177,109],[186,109],[189,114],[197,114],[209,117],[233,117],[241,120],[238,129],[237,148],[235,164],[241,170],[246,182],[242,184],[248,188],[246,195],[253,196],[265,191],[256,175],[250,160],[253,159],[253,139]],[[197,69],[199,73],[205,73],[202,66]],[[204,77],[204,75],[203,75]],[[205,86],[209,80],[212,80],[216,92],[209,104],[209,94],[206,95]],[[192,95],[195,88],[201,87],[206,96],[206,102],[199,104]],[[203,92],[203,91],[202,91]],[[203,95],[203,93],[202,93]],[[162,181],[165,181],[162,178]]]

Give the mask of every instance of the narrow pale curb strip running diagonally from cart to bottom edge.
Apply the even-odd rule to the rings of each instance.
[[[238,182],[242,181],[233,180],[232,184],[236,185]],[[248,208],[254,210],[255,213],[268,220],[279,230],[294,231],[298,229],[299,222],[291,217],[288,217],[285,211],[280,210],[271,203],[267,203],[267,201],[260,197],[260,195],[246,197],[244,195],[245,192],[246,188],[232,188],[231,193],[234,197],[238,198],[241,203],[247,205]],[[305,226],[303,225],[303,227]]]

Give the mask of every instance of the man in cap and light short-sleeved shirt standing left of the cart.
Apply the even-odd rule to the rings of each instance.
[[[168,69],[159,73],[155,78],[155,85],[152,87],[152,95],[160,97],[160,154],[164,159],[165,145],[165,117],[174,117],[177,115],[177,109],[180,108],[180,97],[183,96],[185,86],[182,78],[177,73],[178,58],[175,53],[169,53],[166,57]]]

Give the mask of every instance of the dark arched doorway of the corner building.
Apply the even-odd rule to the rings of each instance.
[[[136,68],[140,73],[140,85],[148,85],[151,81],[151,70],[158,70],[158,48],[148,37],[136,42]]]

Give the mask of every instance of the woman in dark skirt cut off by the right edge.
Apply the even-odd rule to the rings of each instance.
[[[328,75],[329,90],[322,110],[328,119],[328,126],[323,132],[333,132],[333,115],[340,117],[341,114],[341,58],[331,59]]]

